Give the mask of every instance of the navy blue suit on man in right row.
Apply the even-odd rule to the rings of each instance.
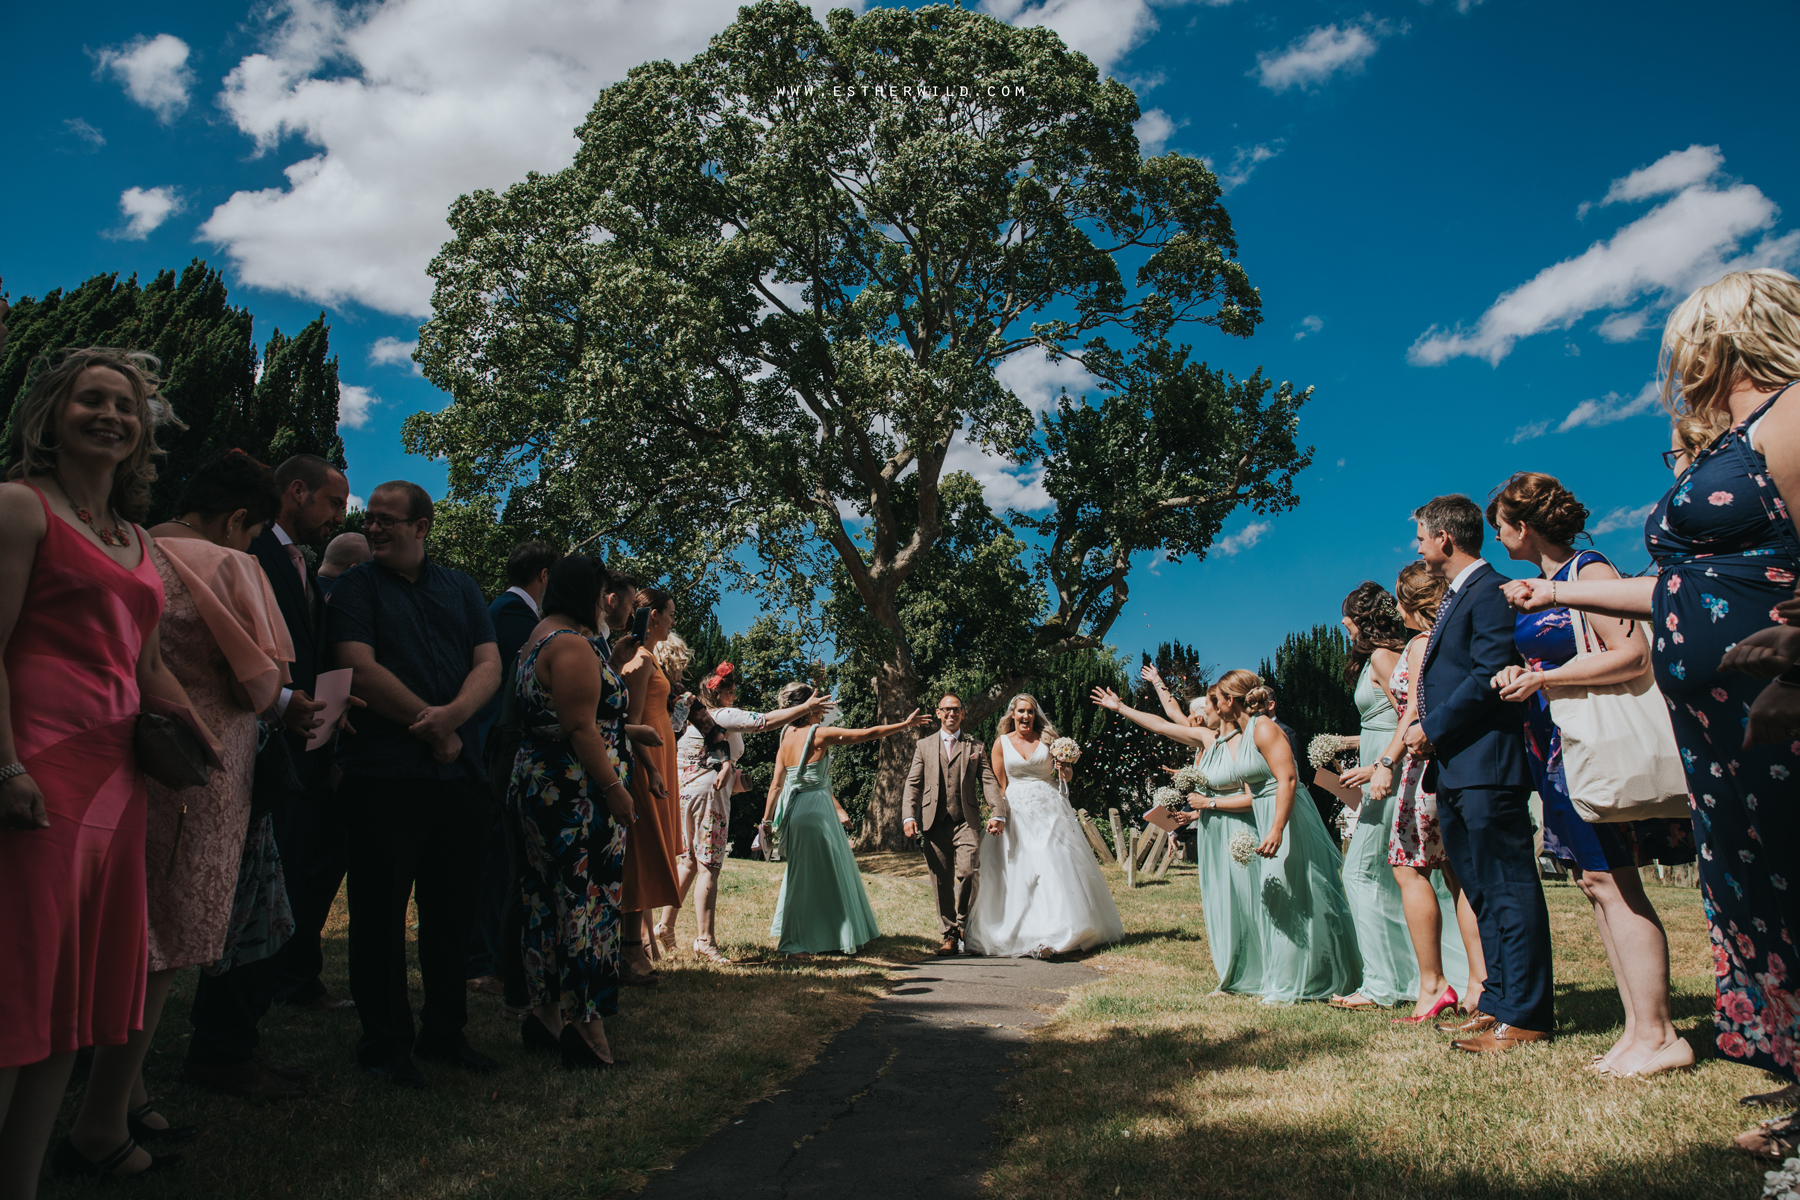
[[[1501,700],[1492,685],[1519,662],[1501,583],[1505,576],[1481,563],[1444,599],[1431,628],[1420,725],[1436,757],[1424,786],[1436,788],[1444,849],[1481,927],[1481,1011],[1552,1033],[1550,910],[1532,844],[1525,705]]]

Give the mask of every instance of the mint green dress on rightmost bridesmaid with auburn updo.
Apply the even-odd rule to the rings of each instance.
[[[1375,682],[1375,662],[1364,662],[1355,680],[1355,707],[1363,716],[1361,766],[1373,766],[1400,720],[1388,693]],[[1363,954],[1363,984],[1355,988],[1366,1000],[1391,1006],[1418,999],[1418,955],[1406,932],[1400,882],[1388,865],[1388,840],[1393,835],[1393,810],[1400,802],[1395,788],[1384,801],[1373,801],[1363,788],[1363,808],[1350,828],[1345,847],[1345,896],[1355,919],[1355,945]]]

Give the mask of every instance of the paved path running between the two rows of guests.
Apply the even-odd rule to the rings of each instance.
[[[783,1092],[751,1105],[643,1195],[974,1198],[1008,1056],[1064,990],[1089,979],[1096,972],[1076,963],[925,959]]]

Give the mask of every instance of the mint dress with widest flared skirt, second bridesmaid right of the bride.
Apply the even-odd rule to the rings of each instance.
[[[1237,792],[1246,783],[1255,795],[1256,840],[1274,822],[1278,784],[1256,748],[1253,716],[1233,747],[1206,765],[1206,779],[1219,792]],[[1327,1000],[1348,993],[1363,977],[1355,927],[1341,878],[1337,844],[1325,829],[1319,810],[1296,797],[1274,858],[1256,858],[1233,871],[1258,873],[1256,930],[1262,946],[1262,988],[1269,1004]]]

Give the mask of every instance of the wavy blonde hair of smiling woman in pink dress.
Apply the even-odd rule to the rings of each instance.
[[[90,349],[63,349],[52,362],[49,354],[31,363],[29,387],[25,398],[13,407],[13,464],[7,468],[9,480],[34,479],[56,473],[56,425],[63,416],[68,398],[76,394],[76,381],[88,367],[117,371],[131,387],[137,408],[139,437],[130,457],[113,471],[113,489],[108,504],[121,516],[142,522],[149,513],[149,486],[157,480],[157,464],[151,459],[162,457],[157,446],[157,426],[175,425],[187,428],[175,419],[175,410],[157,390],[162,378],[162,362],[144,351],[121,351],[106,345]]]

